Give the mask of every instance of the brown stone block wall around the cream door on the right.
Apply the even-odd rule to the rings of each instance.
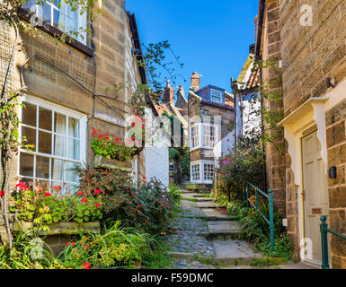
[[[300,24],[302,4],[312,7],[312,26]],[[282,59],[282,89],[284,116],[291,114],[310,98],[326,95],[333,87],[328,87],[326,79],[338,85],[346,77],[346,3],[335,0],[267,1],[267,13],[279,17],[276,22],[267,23],[267,30],[280,30],[280,41],[271,44],[278,48]],[[279,7],[279,10],[277,10]],[[274,32],[271,39],[276,39]],[[327,167],[336,166],[338,177],[328,178],[330,227],[338,232],[346,230],[346,138],[345,100],[326,111]],[[271,164],[269,156],[269,164]],[[297,247],[297,187],[290,170],[290,158],[286,155],[286,189],[288,234]],[[334,268],[346,267],[346,242],[332,236],[332,263]]]

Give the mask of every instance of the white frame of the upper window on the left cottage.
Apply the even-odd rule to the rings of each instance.
[[[65,1],[65,0],[61,0],[61,1]],[[49,24],[51,26],[54,26],[54,18],[53,18],[54,17],[54,10],[59,11],[59,13],[60,13],[62,7],[61,6],[58,7],[57,5],[55,5],[53,3],[50,3],[49,1],[47,1],[45,3],[45,5],[49,5],[50,6],[51,10],[50,10],[50,22],[49,22]],[[69,6],[69,4],[67,4],[67,5]],[[63,32],[69,32],[69,30],[67,30],[67,17],[68,17],[67,16],[67,5],[65,6],[65,11],[62,12],[62,13],[64,13],[64,15],[66,17],[65,18],[65,30],[61,30],[60,28],[57,28],[58,30],[61,30]],[[40,4],[36,4],[36,13],[40,17],[40,16],[43,16],[43,15],[41,15],[42,11],[40,10],[40,8],[38,6],[40,6]],[[31,7],[27,7],[27,8],[31,9]],[[87,12],[84,11],[84,13],[82,13],[82,9],[81,8],[78,8],[78,10],[75,11],[75,12],[77,13],[77,21],[76,21],[76,23],[77,23],[77,30],[75,32],[78,32],[78,39],[76,39],[76,40],[78,40],[79,42],[81,42],[84,45],[86,45],[86,30],[85,29],[86,29],[86,25],[87,25],[87,23],[86,23],[87,22]],[[68,18],[72,19],[71,17],[68,17]],[[83,28],[83,30],[81,30],[81,28]],[[75,39],[75,35],[70,35],[70,37]]]

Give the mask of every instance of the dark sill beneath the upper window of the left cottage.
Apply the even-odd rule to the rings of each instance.
[[[31,13],[29,11],[27,11],[26,9],[19,8],[19,14],[26,21],[30,21],[31,20]],[[43,30],[43,31],[47,32],[49,35],[51,35],[53,37],[60,37],[60,36],[62,36],[64,34],[64,32],[62,30],[58,30],[58,28],[50,25],[47,22],[43,22],[43,25],[38,25],[36,27],[38,27],[40,30]],[[86,45],[84,45],[80,41],[78,41],[76,39],[73,39],[73,38],[70,38],[70,37],[67,36],[65,43],[67,45],[69,45],[69,46],[71,46],[73,48],[76,48],[77,50],[81,51],[82,53],[84,53],[88,57],[93,57],[93,49],[87,47]]]

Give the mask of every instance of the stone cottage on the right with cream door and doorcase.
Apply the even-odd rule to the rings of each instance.
[[[259,1],[255,57],[273,60],[262,83],[281,93],[282,151],[268,144],[268,184],[285,211],[297,261],[321,266],[320,217],[346,234],[346,3]],[[280,80],[280,81],[278,81]],[[346,268],[346,240],[328,236],[333,268]]]

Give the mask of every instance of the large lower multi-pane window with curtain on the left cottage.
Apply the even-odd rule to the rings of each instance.
[[[23,100],[21,110],[22,144],[31,150],[19,152],[19,176],[24,182],[74,192],[77,169],[85,161],[86,120],[83,115],[43,100]]]

